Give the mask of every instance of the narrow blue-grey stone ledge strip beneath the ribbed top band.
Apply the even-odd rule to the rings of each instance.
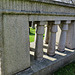
[[[40,11],[25,11],[25,10],[0,10],[0,13],[5,14],[28,14],[28,15],[58,15],[58,16],[75,16],[75,13],[66,12],[40,12]]]

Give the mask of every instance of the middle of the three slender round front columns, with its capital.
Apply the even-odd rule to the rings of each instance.
[[[60,21],[55,21],[54,24],[51,26],[51,35],[50,35],[49,45],[47,50],[47,54],[50,56],[55,55],[56,32],[58,31],[57,25],[59,24]]]

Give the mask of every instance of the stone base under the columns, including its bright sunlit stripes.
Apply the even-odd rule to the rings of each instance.
[[[53,72],[58,70],[60,67],[63,67],[72,61],[75,60],[75,50],[70,50],[65,48],[65,52],[61,53],[56,51],[54,57],[47,56],[47,44],[44,44],[44,55],[42,61],[34,60],[34,43],[31,43],[31,67],[23,72],[20,72],[16,75],[52,75]],[[56,46],[57,49],[57,46]]]

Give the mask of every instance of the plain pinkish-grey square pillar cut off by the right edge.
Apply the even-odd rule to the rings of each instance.
[[[66,39],[66,47],[70,49],[75,48],[75,21],[72,21],[71,24],[69,24],[69,29],[67,32],[67,39]]]

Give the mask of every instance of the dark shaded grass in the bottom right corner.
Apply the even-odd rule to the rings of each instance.
[[[60,68],[54,75],[75,75],[75,62]]]

